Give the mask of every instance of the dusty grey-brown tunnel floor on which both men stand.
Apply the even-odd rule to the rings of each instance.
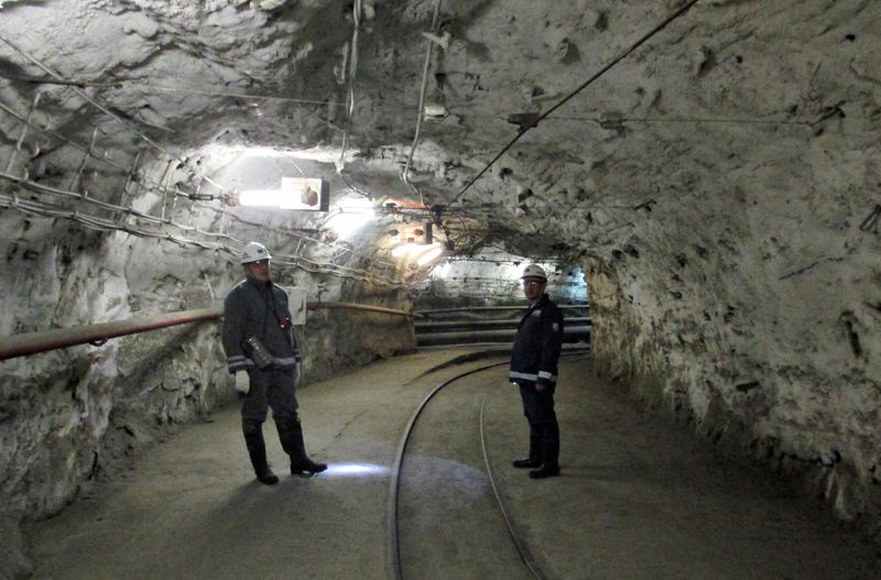
[[[415,406],[472,361],[427,351],[298,393],[306,446],[330,463],[255,482],[238,409],[216,413],[143,453],[61,515],[28,526],[40,579],[393,578],[389,471]],[[527,429],[504,366],[458,381],[420,419],[401,480],[404,578],[530,578],[486,474],[540,572],[573,579],[871,579],[874,546],[764,471],[716,457],[686,427],[646,414],[586,360],[562,364],[559,478],[530,480],[510,460]]]

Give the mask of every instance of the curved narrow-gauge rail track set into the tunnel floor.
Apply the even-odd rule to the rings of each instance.
[[[583,355],[584,351],[576,351],[576,352],[567,352],[563,354],[563,358],[566,359],[575,359],[578,355]],[[401,562],[401,541],[400,541],[400,533],[399,533],[399,508],[400,508],[400,491],[401,491],[401,471],[404,462],[404,455],[406,453],[406,446],[411,439],[413,434],[414,427],[416,422],[422,415],[423,411],[427,407],[428,403],[434,398],[434,396],[450,386],[452,384],[456,383],[460,379],[466,376],[493,369],[496,366],[507,365],[509,361],[499,361],[489,364],[485,364],[477,369],[471,369],[465,371],[447,381],[438,384],[435,386],[420,403],[420,405],[413,411],[406,427],[404,428],[403,436],[401,437],[401,441],[398,446],[398,452],[395,453],[394,464],[392,466],[392,473],[391,473],[391,489],[389,493],[389,515],[388,515],[388,524],[389,524],[389,535],[390,535],[390,546],[389,546],[389,568],[391,572],[391,577],[395,580],[403,580],[404,571],[403,566]],[[518,526],[511,518],[508,510],[508,505],[502,496],[501,490],[498,485],[498,478],[494,477],[494,469],[492,467],[492,460],[489,455],[489,448],[487,445],[487,437],[485,434],[485,411],[487,404],[487,395],[481,397],[480,402],[480,447],[483,455],[483,464],[486,467],[487,477],[490,482],[490,486],[492,488],[493,496],[496,497],[496,502],[498,504],[499,511],[501,512],[502,518],[504,519],[505,526],[508,527],[508,533],[511,537],[511,541],[513,543],[514,548],[516,549],[520,559],[522,560],[523,565],[529,569],[530,573],[533,578],[539,580],[544,580],[545,576],[539,566],[535,563],[535,560],[532,554],[529,550],[525,541],[522,538],[522,534],[519,532]]]

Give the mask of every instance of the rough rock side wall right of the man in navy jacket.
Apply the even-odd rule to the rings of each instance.
[[[635,254],[584,261],[596,368],[881,537],[878,237],[815,223],[817,258],[758,214],[729,223],[763,241],[653,232]]]

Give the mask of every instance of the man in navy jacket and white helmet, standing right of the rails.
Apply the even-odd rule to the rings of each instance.
[[[533,479],[544,479],[559,475],[559,426],[554,412],[554,390],[563,349],[563,315],[544,293],[547,276],[541,266],[526,266],[522,280],[530,309],[516,331],[509,376],[520,386],[523,414],[530,424],[530,455],[513,464],[519,469],[532,469],[530,477]]]

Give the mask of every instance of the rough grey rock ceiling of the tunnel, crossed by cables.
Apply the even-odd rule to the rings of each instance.
[[[177,155],[182,187],[217,171],[208,145],[322,147],[378,201],[424,203],[527,253],[610,251],[641,214],[713,220],[754,180],[809,172],[830,125],[867,139],[881,117],[877,2],[693,3],[6,2],[2,136],[15,143],[10,113],[40,94],[37,122],[81,144],[97,128],[121,166]],[[420,119],[421,102],[443,114]],[[43,147],[31,176],[79,163]]]

